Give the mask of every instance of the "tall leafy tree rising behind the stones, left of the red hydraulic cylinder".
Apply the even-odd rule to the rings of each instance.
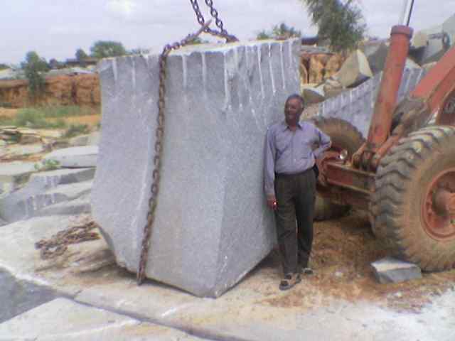
[[[366,25],[362,11],[353,0],[301,0],[318,26],[318,36],[327,39],[336,52],[346,53],[363,40]]]

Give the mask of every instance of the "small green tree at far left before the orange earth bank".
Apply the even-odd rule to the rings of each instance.
[[[35,51],[26,54],[25,62],[21,63],[28,80],[28,96],[32,102],[36,102],[45,90],[45,80],[40,72],[47,72],[49,65]]]

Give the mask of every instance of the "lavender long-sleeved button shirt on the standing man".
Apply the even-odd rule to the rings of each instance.
[[[314,151],[314,144],[319,145]],[[286,121],[273,124],[267,130],[264,158],[264,190],[274,196],[275,173],[296,174],[314,166],[314,161],[331,146],[328,135],[314,124],[301,121],[291,131]]]

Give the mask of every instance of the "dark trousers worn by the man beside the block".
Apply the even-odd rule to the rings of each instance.
[[[312,168],[275,176],[277,239],[284,274],[307,267],[313,244],[316,177]]]

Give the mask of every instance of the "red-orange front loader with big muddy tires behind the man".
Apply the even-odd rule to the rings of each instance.
[[[413,3],[407,2],[405,24],[390,33],[366,141],[347,121],[316,119],[333,140],[317,161],[317,187],[326,216],[346,207],[366,210],[395,256],[440,271],[455,267],[455,47],[396,104]]]

